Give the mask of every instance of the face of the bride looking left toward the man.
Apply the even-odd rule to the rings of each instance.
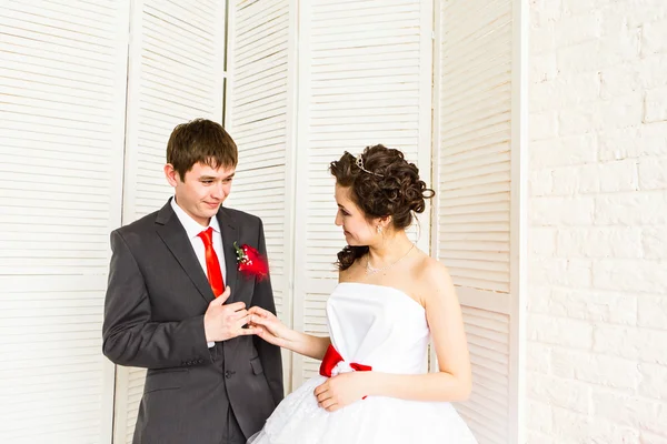
[[[336,184],[336,225],[342,228],[348,245],[369,245],[377,236],[375,226],[366,220],[366,215],[350,198],[349,186]]]

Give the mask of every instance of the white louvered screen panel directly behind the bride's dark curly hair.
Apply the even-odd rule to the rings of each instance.
[[[430,1],[300,2],[293,324],[327,334],[325,304],[345,246],[328,165],[377,143],[430,173]],[[427,213],[428,214],[428,213]],[[418,245],[428,251],[428,216]],[[295,356],[292,383],[319,362]]]

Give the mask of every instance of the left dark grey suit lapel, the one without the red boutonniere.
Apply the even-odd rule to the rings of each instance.
[[[173,209],[171,208],[171,199],[158,212],[156,218],[156,231],[162,239],[171,254],[176,258],[180,266],[186,271],[188,278],[192,281],[201,296],[210,302],[213,300],[213,292],[206,278],[206,273],[197,260],[192,243],[188,239],[186,229],[181,225]],[[226,258],[227,260],[227,254]]]

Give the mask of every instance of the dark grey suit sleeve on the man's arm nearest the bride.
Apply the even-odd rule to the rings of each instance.
[[[267,244],[263,234],[263,224],[259,221],[259,242],[258,250],[261,255],[267,258]],[[276,302],[273,301],[273,290],[271,289],[271,280],[269,278],[257,281],[255,284],[255,293],[252,295],[252,305],[261,306],[265,310],[276,314]],[[259,353],[259,359],[263,367],[263,374],[269,383],[271,395],[276,405],[282,401],[285,396],[282,387],[282,360],[280,357],[280,347],[271,345],[258,336],[253,336],[255,346]]]

